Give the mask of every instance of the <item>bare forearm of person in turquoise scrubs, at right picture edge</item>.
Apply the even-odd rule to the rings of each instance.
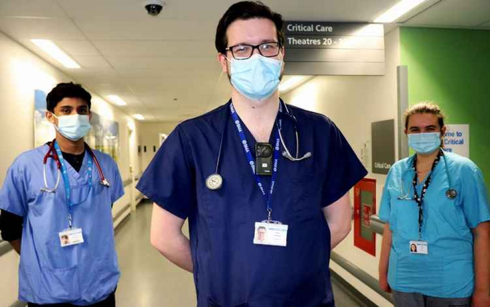
[[[475,292],[490,293],[490,222],[479,225],[481,231],[475,233]]]

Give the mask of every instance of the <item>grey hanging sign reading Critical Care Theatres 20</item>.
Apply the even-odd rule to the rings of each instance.
[[[287,75],[384,75],[381,24],[287,21]]]

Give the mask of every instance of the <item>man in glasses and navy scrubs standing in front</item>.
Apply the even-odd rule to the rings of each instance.
[[[178,125],[137,185],[155,202],[151,242],[194,274],[198,307],[334,306],[330,250],[367,172],[327,117],[279,99],[282,26],[261,2],[226,11],[216,48],[231,100]]]

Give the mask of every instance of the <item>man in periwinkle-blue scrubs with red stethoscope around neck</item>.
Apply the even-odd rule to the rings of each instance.
[[[60,83],[46,100],[56,138],[19,155],[0,190],[1,234],[21,256],[19,300],[29,307],[115,306],[111,204],[124,194],[121,176],[109,155],[83,141],[90,94]]]

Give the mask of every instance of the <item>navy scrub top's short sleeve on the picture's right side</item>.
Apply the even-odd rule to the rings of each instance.
[[[327,179],[323,186],[325,206],[339,200],[367,175],[342,132],[328,119],[327,125]]]

